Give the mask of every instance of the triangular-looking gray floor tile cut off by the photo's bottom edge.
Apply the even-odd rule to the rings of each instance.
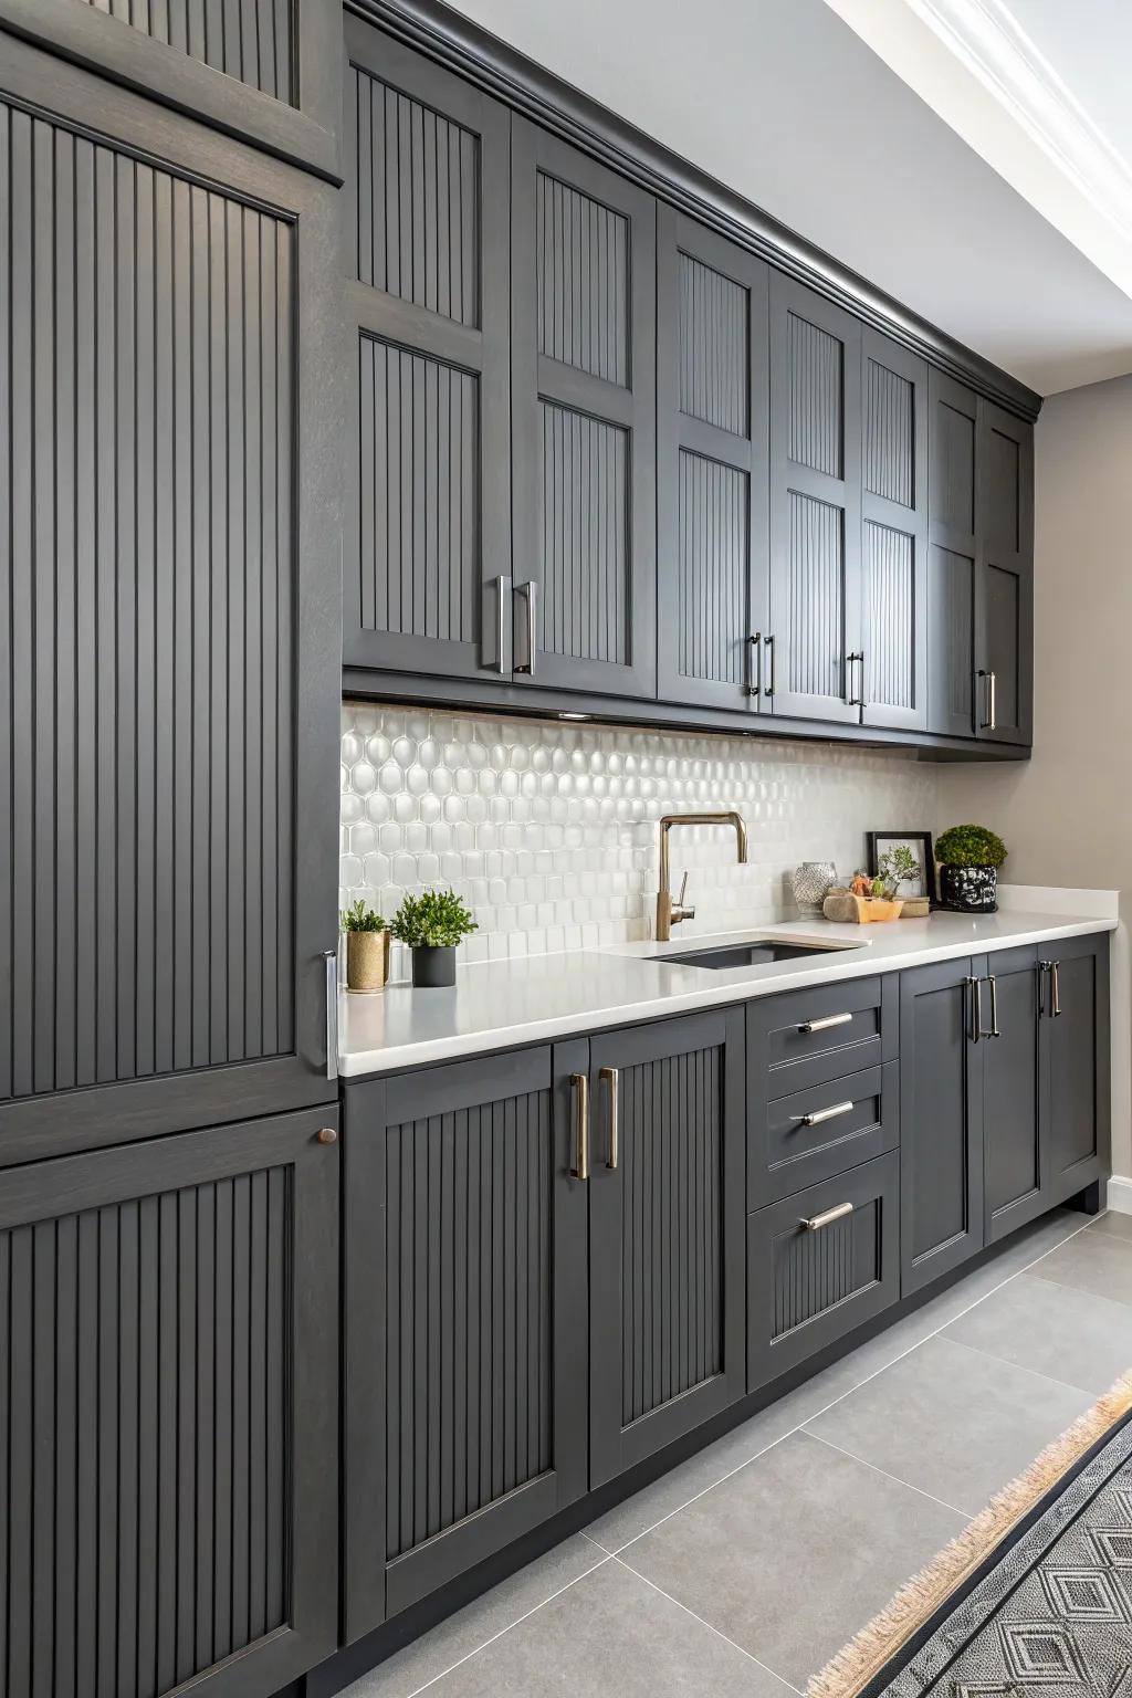
[[[560,1593],[429,1698],[791,1698],[767,1669],[619,1562]]]

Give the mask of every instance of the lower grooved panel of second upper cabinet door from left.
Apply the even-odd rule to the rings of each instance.
[[[540,649],[625,666],[630,654],[628,433],[540,404],[543,584]]]

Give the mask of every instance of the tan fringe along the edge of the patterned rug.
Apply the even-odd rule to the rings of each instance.
[[[901,1586],[893,1601],[832,1657],[806,1690],[808,1698],[855,1698],[889,1657],[923,1627],[986,1555],[1017,1527],[1051,1486],[1132,1409],[1132,1369],[1078,1416],[940,1554]]]

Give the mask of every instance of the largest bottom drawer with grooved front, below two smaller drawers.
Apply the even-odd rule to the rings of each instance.
[[[747,1217],[748,1391],[896,1302],[898,1207],[893,1150]]]

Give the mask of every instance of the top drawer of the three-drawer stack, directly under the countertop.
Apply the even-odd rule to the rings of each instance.
[[[896,978],[816,985],[747,1005],[747,1090],[762,1102],[896,1060]]]

